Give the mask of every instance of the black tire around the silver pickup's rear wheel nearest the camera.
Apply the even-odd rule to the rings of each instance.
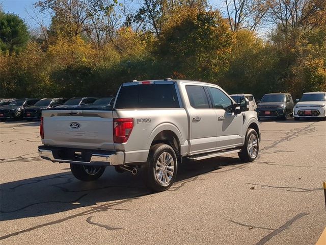
[[[173,160],[173,174],[171,175],[170,173],[167,173],[167,171],[171,172],[171,166],[172,166],[172,161],[170,162],[169,165],[165,165],[162,164],[162,167],[165,167],[165,173],[166,175],[161,175],[162,178],[161,180],[159,180],[159,177],[157,176],[159,173],[162,173],[162,170],[158,170],[156,171],[156,165],[160,164],[161,161],[159,161],[159,158],[161,157],[162,154],[164,153],[168,153],[169,155],[166,156],[164,161],[168,161],[171,160],[170,157],[172,157]],[[165,165],[165,166],[163,166]],[[169,169],[169,170],[167,170]],[[168,144],[155,144],[151,147],[150,151],[149,151],[149,155],[147,158],[147,167],[145,170],[145,175],[146,175],[146,185],[148,188],[154,190],[154,191],[164,191],[170,188],[170,186],[173,184],[176,176],[177,176],[177,171],[178,171],[178,160],[177,160],[177,156],[174,152],[174,150],[172,149],[172,147]],[[171,177],[171,179],[169,179],[169,181],[167,181],[166,183],[161,183],[165,182]]]

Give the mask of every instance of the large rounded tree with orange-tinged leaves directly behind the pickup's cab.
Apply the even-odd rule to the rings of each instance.
[[[180,8],[162,29],[158,60],[166,76],[216,82],[229,64],[233,33],[219,11]]]

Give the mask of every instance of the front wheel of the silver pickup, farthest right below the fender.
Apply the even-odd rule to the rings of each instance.
[[[258,156],[259,151],[259,138],[256,130],[248,129],[246,139],[241,148],[241,152],[238,153],[239,158],[243,162],[252,162]]]

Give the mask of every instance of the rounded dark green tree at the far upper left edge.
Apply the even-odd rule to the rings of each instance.
[[[28,28],[18,15],[0,11],[0,50],[19,53],[29,39]]]

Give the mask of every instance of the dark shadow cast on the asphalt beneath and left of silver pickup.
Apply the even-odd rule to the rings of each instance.
[[[170,190],[182,191],[185,182],[193,181],[196,176],[212,171],[219,173],[223,166],[239,164],[239,159],[231,157],[182,164]],[[66,170],[68,165],[62,166]],[[66,171],[4,183],[0,188],[0,220],[49,215],[153,194],[146,188],[143,179],[143,171],[132,176],[129,173],[119,174],[113,167],[107,167],[104,175],[94,182],[80,182],[70,171]]]

